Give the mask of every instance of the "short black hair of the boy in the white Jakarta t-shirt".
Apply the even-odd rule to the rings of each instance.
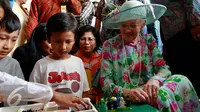
[[[47,22],[47,36],[50,39],[52,32],[76,32],[77,20],[70,13],[57,13],[51,16]]]

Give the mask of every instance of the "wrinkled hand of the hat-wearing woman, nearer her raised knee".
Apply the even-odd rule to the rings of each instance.
[[[149,104],[157,107],[157,97],[158,97],[158,89],[160,87],[160,83],[158,80],[150,79],[143,87],[143,90],[148,94],[149,100],[147,101]]]

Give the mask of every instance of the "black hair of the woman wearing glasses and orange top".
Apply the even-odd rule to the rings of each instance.
[[[94,49],[94,51],[99,50],[100,46],[102,45],[102,42],[100,39],[100,33],[95,27],[92,27],[90,25],[85,25],[78,29],[78,31],[76,33],[75,46],[78,49],[80,48],[80,46],[79,46],[80,38],[85,34],[85,32],[91,32],[94,35],[95,40],[96,40],[96,48]]]

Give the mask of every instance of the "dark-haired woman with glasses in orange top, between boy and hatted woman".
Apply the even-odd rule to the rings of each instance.
[[[95,97],[97,97],[95,92],[99,93],[99,90],[92,87],[92,78],[101,66],[102,56],[98,53],[101,46],[99,31],[90,25],[80,27],[77,31],[75,45],[78,51],[74,55],[83,61],[90,87],[89,97],[92,102],[95,102]]]

